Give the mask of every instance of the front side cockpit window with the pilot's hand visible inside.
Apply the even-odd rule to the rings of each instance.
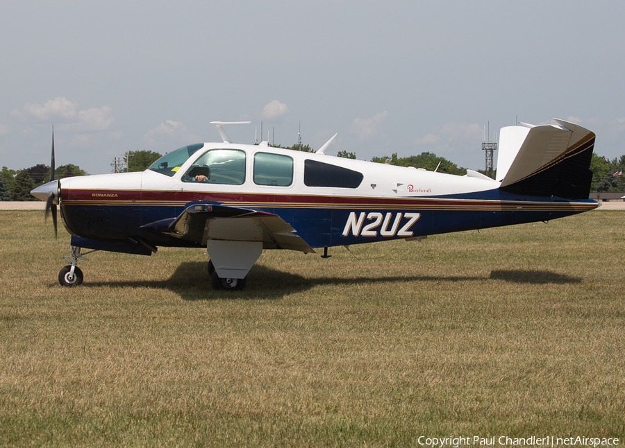
[[[245,153],[236,149],[211,149],[183,175],[183,182],[240,185],[245,182]]]

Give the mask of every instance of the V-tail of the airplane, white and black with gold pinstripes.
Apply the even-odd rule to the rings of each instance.
[[[497,161],[499,189],[528,196],[588,198],[594,132],[554,120],[557,125],[501,129]]]

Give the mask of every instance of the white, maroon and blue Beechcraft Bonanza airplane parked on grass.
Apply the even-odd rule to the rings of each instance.
[[[450,175],[316,153],[219,143],[184,146],[141,173],[51,180],[31,191],[57,206],[71,234],[60,284],[96,250],[138,255],[158,246],[204,248],[215,289],[241,289],[264,249],[309,253],[337,245],[548,221],[598,207],[588,198],[595,135],[574,123],[501,129],[497,179]],[[236,122],[240,123],[240,122]],[[249,123],[249,122],[247,122]],[[90,252],[83,252],[90,249]]]

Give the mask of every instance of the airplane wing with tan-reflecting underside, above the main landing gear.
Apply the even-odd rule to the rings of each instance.
[[[280,216],[224,205],[191,205],[177,218],[157,221],[142,228],[201,245],[206,245],[209,239],[261,241],[263,249],[315,252]]]

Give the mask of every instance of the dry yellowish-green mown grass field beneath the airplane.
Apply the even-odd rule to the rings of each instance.
[[[267,251],[235,293],[170,248],[62,288],[59,235],[0,212],[0,445],[624,445],[625,212]]]

